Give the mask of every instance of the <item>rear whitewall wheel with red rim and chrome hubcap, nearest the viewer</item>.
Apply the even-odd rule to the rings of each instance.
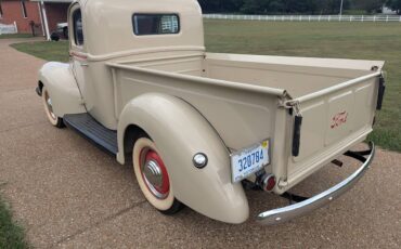
[[[148,137],[137,140],[133,145],[133,170],[139,186],[147,201],[164,214],[174,214],[183,208],[176,199],[167,168],[155,143]]]

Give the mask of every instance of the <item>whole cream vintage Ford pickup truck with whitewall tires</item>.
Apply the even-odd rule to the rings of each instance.
[[[349,149],[372,132],[384,62],[207,53],[195,0],[78,0],[68,27],[69,63],[39,71],[50,122],[132,162],[165,214],[187,206],[243,223],[245,191],[290,198],[339,156],[361,161],[337,185],[256,218],[276,224],[345,193],[372,162],[372,143]]]

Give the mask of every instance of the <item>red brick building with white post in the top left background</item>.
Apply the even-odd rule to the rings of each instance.
[[[18,32],[51,34],[57,23],[67,22],[73,0],[0,0],[0,23],[16,23]]]

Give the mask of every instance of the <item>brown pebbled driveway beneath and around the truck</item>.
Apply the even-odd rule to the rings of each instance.
[[[155,211],[130,167],[68,129],[52,128],[35,93],[44,63],[0,40],[0,191],[38,248],[401,248],[401,154],[377,149],[353,189],[307,217],[277,226],[210,220],[186,208]],[[344,159],[294,189],[316,194],[358,163]],[[249,192],[251,217],[287,205]]]

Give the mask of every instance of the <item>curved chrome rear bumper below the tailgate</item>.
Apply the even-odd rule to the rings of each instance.
[[[338,196],[349,191],[370,168],[375,155],[375,145],[371,142],[368,146],[370,149],[365,152],[347,152],[344,154],[363,162],[363,165],[346,180],[301,202],[259,213],[257,221],[262,225],[273,225],[286,222],[327,205]],[[367,158],[365,156],[367,156]]]

